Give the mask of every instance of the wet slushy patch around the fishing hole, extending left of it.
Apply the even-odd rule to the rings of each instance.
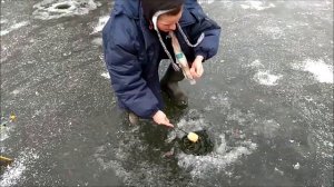
[[[155,147],[147,144],[148,134],[143,134],[140,130],[143,127],[136,126],[119,130],[117,132],[117,137],[119,137],[117,144],[107,142],[96,148],[92,160],[100,166],[100,173],[112,170],[124,185],[169,186],[180,183],[179,178],[175,178],[178,175],[181,178],[186,177],[187,180],[193,180],[193,177],[209,177],[206,171],[216,175],[225,174],[224,168],[226,166],[236,164],[257,147],[256,144],[246,139],[236,140],[233,145],[228,144],[225,134],[212,130],[210,128],[214,126],[205,121],[197,110],[190,110],[183,116],[177,126],[186,131],[207,129],[208,134],[212,134],[210,139],[216,142],[214,151],[206,156],[184,154],[177,145],[173,144],[176,136],[184,136],[184,132],[176,129],[169,131],[167,138],[161,139],[161,144]],[[151,124],[148,128],[150,129],[149,134],[154,134],[155,130],[151,130],[155,127],[151,127]],[[173,149],[176,149],[171,159],[165,156],[167,150],[164,150],[163,147],[166,145],[174,145]],[[171,167],[170,165],[175,166]]]

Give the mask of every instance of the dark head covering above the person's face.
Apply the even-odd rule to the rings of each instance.
[[[185,0],[141,0],[144,17],[151,20],[153,16],[159,10],[171,10],[168,16],[176,16],[181,10]]]

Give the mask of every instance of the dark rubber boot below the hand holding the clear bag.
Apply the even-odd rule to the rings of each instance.
[[[185,78],[181,71],[175,71],[171,66],[168,67],[165,76],[160,81],[161,90],[167,94],[177,107],[187,107],[188,97],[178,87],[178,81]]]

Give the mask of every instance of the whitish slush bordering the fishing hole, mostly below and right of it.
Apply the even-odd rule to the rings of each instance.
[[[186,131],[196,131],[202,129],[208,129],[209,124],[197,111],[190,110],[178,124],[177,127]],[[171,132],[170,137],[181,137],[183,132]],[[212,131],[212,139],[216,142],[214,151],[205,156],[194,156],[179,152],[177,155],[178,165],[186,170],[190,170],[190,175],[196,178],[205,178],[207,171],[222,171],[227,165],[236,163],[242,156],[250,155],[257,147],[255,142],[250,140],[239,140],[236,147],[229,147],[227,151],[227,142],[225,134],[219,131]]]

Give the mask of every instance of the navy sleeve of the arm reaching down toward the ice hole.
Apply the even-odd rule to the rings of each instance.
[[[158,99],[141,77],[136,49],[136,30],[129,20],[114,19],[104,29],[104,52],[111,86],[118,101],[141,118],[151,118],[159,110]],[[118,23],[117,23],[118,22]]]

